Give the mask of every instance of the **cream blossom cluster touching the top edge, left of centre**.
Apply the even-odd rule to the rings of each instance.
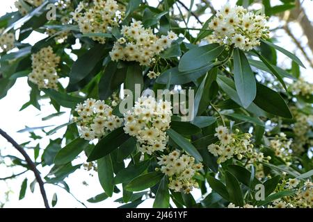
[[[79,3],[71,13],[72,18],[79,24],[81,33],[108,33],[124,16],[125,8],[114,0],[94,0],[93,3]],[[93,40],[105,43],[105,37],[94,36]]]

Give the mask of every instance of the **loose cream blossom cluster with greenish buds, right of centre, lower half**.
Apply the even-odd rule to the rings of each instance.
[[[245,157],[248,160],[248,164],[254,162],[266,161],[269,158],[264,158],[262,152],[257,152],[253,149],[250,138],[250,133],[239,134],[239,130],[236,129],[234,133],[230,133],[227,127],[218,126],[215,136],[218,137],[218,142],[210,144],[208,150],[214,156],[218,157],[218,164],[225,162],[226,160],[236,156],[239,160]]]

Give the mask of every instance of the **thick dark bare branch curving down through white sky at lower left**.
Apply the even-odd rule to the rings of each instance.
[[[8,140],[8,142],[10,142],[10,144],[12,144],[17,149],[17,151],[19,151],[19,153],[21,153],[24,156],[27,164],[29,165],[29,169],[31,169],[31,171],[33,171],[33,173],[35,174],[35,178],[36,178],[38,185],[40,187],[42,199],[44,200],[44,203],[45,203],[45,207],[50,208],[49,202],[47,199],[47,194],[46,194],[45,187],[44,187],[44,182],[42,181],[42,178],[40,177],[40,172],[36,168],[33,160],[31,160],[31,157],[29,157],[29,155],[26,153],[26,151],[24,151],[24,149],[21,146],[19,146],[19,144],[17,144],[17,142],[15,142],[15,140],[12,137],[10,137],[6,132],[4,132],[1,129],[0,129],[0,135],[2,135],[4,138],[6,138]]]

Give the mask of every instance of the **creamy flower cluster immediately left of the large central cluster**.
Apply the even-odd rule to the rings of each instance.
[[[74,117],[74,121],[77,121],[81,138],[86,140],[99,139],[122,126],[122,119],[115,116],[104,101],[87,99],[77,104],[75,111],[79,117]]]

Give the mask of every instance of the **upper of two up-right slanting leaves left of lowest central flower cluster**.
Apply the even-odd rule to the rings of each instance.
[[[149,167],[149,165],[150,160],[145,160],[136,165],[130,164],[126,169],[122,169],[118,172],[113,180],[113,183],[117,185],[119,183],[130,182],[131,180],[134,180],[134,178],[140,176],[141,173],[143,173],[147,167]]]

